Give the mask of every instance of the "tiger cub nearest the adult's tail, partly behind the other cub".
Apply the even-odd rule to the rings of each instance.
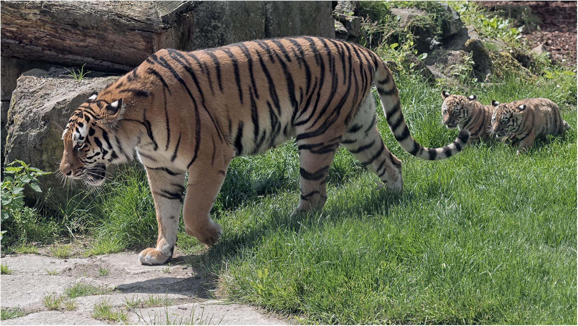
[[[492,139],[490,120],[494,107],[476,101],[476,95],[450,94],[442,91],[442,119],[448,129],[468,130],[468,143]]]

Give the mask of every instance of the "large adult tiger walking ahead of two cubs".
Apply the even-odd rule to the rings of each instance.
[[[401,161],[376,128],[374,83],[404,150],[442,160],[465,146],[466,131],[440,149],[412,138],[391,72],[375,53],[342,40],[302,36],[158,51],[72,114],[62,136],[60,171],[98,185],[107,164],[131,160],[136,149],[158,221],[157,246],[143,250],[139,261],[164,264],[175,246],[184,172],[186,232],[212,245],[221,227],[209,212],[231,159],[261,153],[292,136],[299,149],[298,210],[323,206],[339,145],[388,187],[401,190]]]

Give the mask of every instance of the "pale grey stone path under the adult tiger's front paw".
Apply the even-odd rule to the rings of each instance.
[[[216,300],[210,295],[212,285],[194,275],[190,267],[173,260],[170,266],[142,266],[136,254],[110,254],[90,258],[62,260],[36,254],[12,254],[1,259],[13,270],[0,277],[0,299],[3,308],[20,308],[26,316],[2,320],[2,325],[104,325],[123,324],[92,316],[95,303],[106,302],[112,311],[124,311],[127,324],[195,324],[221,325],[281,325],[287,324],[272,315],[265,315],[254,307]],[[99,270],[100,269],[100,270]],[[101,275],[101,273],[106,275]],[[55,274],[55,275],[51,275]],[[76,308],[49,310],[43,298],[66,297],[65,290],[73,284],[91,284],[94,287],[116,288],[109,294],[76,298]],[[147,299],[165,301],[165,304],[141,303],[134,311],[123,302]],[[166,302],[168,301],[168,302]]]

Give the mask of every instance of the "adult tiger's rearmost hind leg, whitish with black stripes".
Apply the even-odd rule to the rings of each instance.
[[[388,188],[401,191],[403,188],[401,160],[383,143],[376,123],[375,103],[372,94],[369,93],[349,123],[341,144],[361,164],[375,173]]]

